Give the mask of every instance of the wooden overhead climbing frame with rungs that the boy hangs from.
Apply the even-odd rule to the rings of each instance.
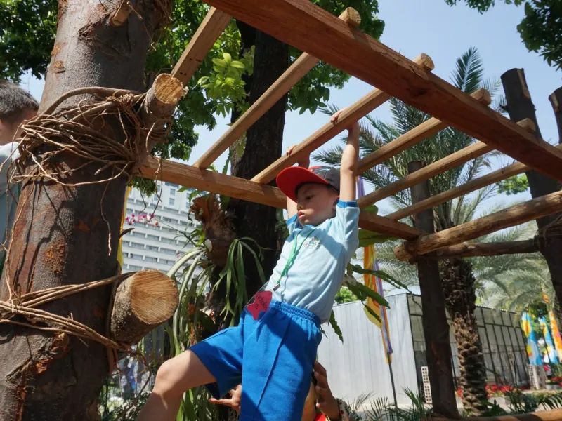
[[[361,119],[395,97],[431,114],[433,118],[360,159],[358,174],[447,127],[463,131],[479,141],[407,175],[402,180],[367,194],[359,199],[360,208],[370,206],[376,201],[495,149],[518,161],[390,215],[379,216],[362,212],[360,227],[407,240],[397,248],[398,258],[410,260],[416,255],[424,255],[433,250],[437,250],[434,254],[444,256],[461,253],[462,250],[470,255],[493,255],[495,251],[490,250],[489,246],[472,246],[468,250],[462,243],[562,210],[562,192],[556,192],[435,234],[427,234],[421,229],[399,222],[400,219],[421,210],[438,206],[530,169],[562,182],[562,147],[554,147],[537,138],[535,125],[529,119],[514,123],[490,109],[490,93],[484,89],[468,95],[431,73],[433,62],[429,56],[421,54],[414,60],[408,60],[360,32],[360,16],[351,8],[337,18],[308,0],[205,1],[212,7],[172,73],[184,85],[191,79],[231,18],[246,22],[305,53],[295,60],[214,145],[211,145],[195,165],[174,161],[159,162],[149,157],[142,168],[144,177],[285,208],[285,195],[268,183],[274,180],[283,168],[296,163],[300,156],[310,154],[344,131],[348,123]],[[348,107],[337,123],[322,126],[297,145],[291,156],[282,156],[251,180],[207,169],[320,60],[377,88]],[[506,244],[503,246],[504,250],[509,248]],[[533,250],[532,244],[516,246],[520,250]]]

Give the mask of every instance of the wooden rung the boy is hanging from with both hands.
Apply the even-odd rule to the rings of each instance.
[[[415,58],[415,60],[417,65],[421,66],[426,72],[431,72],[431,70],[433,70],[433,61],[429,58],[429,55],[421,54]],[[348,107],[348,109],[341,114],[337,123],[326,123],[318,129],[318,131],[315,131],[315,133],[299,143],[299,145],[296,145],[290,156],[282,156],[280,159],[277,159],[277,161],[251,180],[262,183],[270,182],[284,168],[292,166],[299,161],[301,156],[311,154],[315,149],[318,149],[328,140],[344,131],[351,123],[362,119],[362,117],[384,104],[384,102],[388,101],[390,98],[390,95],[387,95],[380,89],[373,89],[370,93],[355,102],[355,104],[351,105],[351,107]]]

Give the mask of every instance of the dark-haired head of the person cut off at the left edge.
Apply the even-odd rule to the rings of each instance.
[[[14,83],[0,81],[0,145],[12,142],[19,135],[20,124],[37,115],[39,104]],[[17,137],[17,136],[15,136]]]

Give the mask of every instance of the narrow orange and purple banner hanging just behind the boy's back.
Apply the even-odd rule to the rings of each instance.
[[[357,180],[357,196],[365,196],[365,185],[363,185],[363,179],[358,177]],[[365,247],[363,253],[363,267],[365,269],[379,270],[379,263],[377,262],[377,252],[374,250],[374,246],[370,245]],[[363,274],[363,282],[365,286],[374,290],[376,293],[384,297],[384,289],[382,284],[382,279],[378,276],[372,274]],[[382,342],[384,345],[384,355],[386,356],[386,362],[392,362],[392,345],[390,333],[388,332],[388,316],[386,316],[386,307],[382,307],[378,302],[372,300],[372,298],[367,298],[367,307],[369,307],[374,314],[377,314],[381,321],[377,320],[369,310],[364,309],[367,318],[372,321],[375,325],[379,326],[381,329]]]

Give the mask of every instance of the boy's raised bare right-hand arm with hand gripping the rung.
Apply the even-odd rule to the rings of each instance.
[[[335,123],[344,109],[340,109],[332,116],[332,123]],[[357,162],[359,160],[359,123],[355,121],[348,127],[347,145],[341,154],[340,180],[339,180],[339,200],[355,200],[355,173],[357,172]]]

